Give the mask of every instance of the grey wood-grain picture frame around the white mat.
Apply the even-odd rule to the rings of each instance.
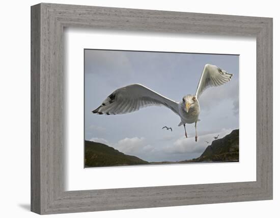
[[[64,190],[64,27],[255,36],[257,181]],[[272,199],[272,18],[39,4],[31,7],[31,210],[39,214]]]

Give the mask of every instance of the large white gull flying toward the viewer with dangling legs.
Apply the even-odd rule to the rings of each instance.
[[[205,64],[197,91],[195,94],[183,96],[182,101],[175,102],[165,96],[149,89],[142,84],[131,84],[121,87],[111,93],[102,104],[93,110],[96,114],[124,114],[137,111],[147,106],[165,106],[180,117],[178,126],[184,126],[187,138],[186,124],[195,127],[195,141],[198,141],[197,122],[200,121],[199,98],[203,91],[210,86],[220,86],[231,80],[233,74],[211,64]]]

